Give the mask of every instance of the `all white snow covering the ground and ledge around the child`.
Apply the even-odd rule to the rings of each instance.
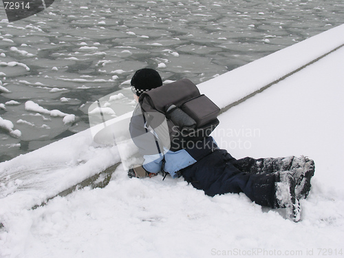
[[[211,98],[224,107],[343,45],[343,30],[341,25],[200,88],[211,86]],[[208,197],[182,178],[129,179],[122,166],[104,189],[85,188],[30,209],[119,160],[116,147],[94,143],[87,130],[0,164],[0,257],[343,256],[343,67],[341,47],[229,109],[213,132],[235,158],[314,159],[301,222],[243,194]]]

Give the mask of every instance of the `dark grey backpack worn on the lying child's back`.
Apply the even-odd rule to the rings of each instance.
[[[208,137],[219,125],[219,107],[186,78],[144,92],[139,103],[146,128],[171,151],[186,149],[189,141]]]

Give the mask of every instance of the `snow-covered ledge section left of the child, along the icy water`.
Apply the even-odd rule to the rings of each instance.
[[[116,147],[100,147],[86,130],[2,162],[0,218],[41,204],[118,161]]]

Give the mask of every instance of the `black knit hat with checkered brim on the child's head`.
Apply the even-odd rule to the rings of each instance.
[[[142,68],[136,71],[130,83],[133,93],[140,96],[143,92],[160,87],[162,79],[155,69]]]

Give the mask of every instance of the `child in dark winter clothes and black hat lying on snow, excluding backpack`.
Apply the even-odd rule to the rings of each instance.
[[[162,79],[154,69],[140,69],[131,79],[137,101],[143,92],[160,86]],[[159,172],[169,173],[172,178],[182,176],[206,195],[245,193],[261,206],[286,208],[288,216],[299,222],[300,199],[310,192],[310,180],[314,175],[313,160],[305,157],[236,160],[226,150],[219,149],[211,136],[198,138],[194,144],[185,144],[176,151],[161,149],[161,139],[156,129],[147,127],[149,115],[142,113],[141,108],[138,105],[133,112],[129,131],[144,162],[129,170],[130,177],[152,176]]]

